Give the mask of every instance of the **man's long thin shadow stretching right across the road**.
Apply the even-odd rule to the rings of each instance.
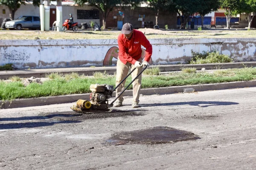
[[[173,103],[155,103],[155,104],[142,104],[140,106],[177,106],[177,105],[191,105],[200,106],[206,108],[208,106],[219,106],[219,105],[238,105],[236,102],[216,102],[216,101],[194,101],[194,102],[173,102]]]

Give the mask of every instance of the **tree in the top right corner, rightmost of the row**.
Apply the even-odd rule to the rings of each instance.
[[[245,13],[248,15],[248,28],[250,28],[253,17],[256,14],[256,0],[240,0],[237,13]]]

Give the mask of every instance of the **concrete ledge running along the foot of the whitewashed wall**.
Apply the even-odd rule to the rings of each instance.
[[[207,70],[214,69],[227,69],[227,68],[244,68],[244,67],[256,67],[256,62],[233,62],[233,63],[213,63],[213,64],[180,64],[180,65],[153,65],[160,68],[161,72],[165,71],[180,71],[181,68],[194,67],[197,70],[205,68]],[[152,66],[151,66],[152,67]],[[77,72],[79,75],[93,75],[94,72],[100,71],[108,74],[114,74],[116,67],[96,67],[96,68],[47,68],[47,69],[32,69],[32,70],[16,70],[16,71],[0,71],[0,79],[9,79],[12,76],[18,76],[20,78],[27,77],[45,77],[46,74],[59,72],[62,74],[70,74]]]

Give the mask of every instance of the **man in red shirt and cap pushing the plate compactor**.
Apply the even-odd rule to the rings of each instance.
[[[142,62],[141,59],[141,45],[146,48],[145,58]],[[145,35],[138,30],[134,30],[133,26],[130,23],[125,23],[122,27],[121,34],[118,36],[118,59],[116,64],[116,85],[118,85],[122,79],[124,79],[130,68],[131,70],[137,68],[132,74],[131,77],[134,79],[141,71],[142,67],[146,66],[152,55],[152,45],[147,40]],[[133,86],[133,102],[132,108],[139,107],[139,97],[140,97],[140,88],[141,88],[141,74],[140,76],[132,83]],[[121,91],[125,88],[125,81],[116,88],[116,97],[120,94]],[[123,102],[122,95],[119,96],[117,102],[113,105],[114,107],[122,106]]]

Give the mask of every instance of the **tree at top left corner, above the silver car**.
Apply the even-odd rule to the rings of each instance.
[[[15,12],[20,8],[21,5],[26,5],[25,2],[30,0],[0,0],[0,5],[5,5],[10,11],[10,19],[14,20]],[[33,0],[34,6],[40,5],[40,0]]]

